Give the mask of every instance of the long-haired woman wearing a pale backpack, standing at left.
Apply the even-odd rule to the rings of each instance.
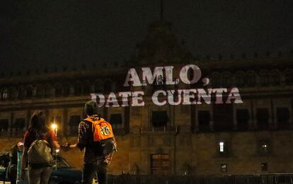
[[[28,183],[47,184],[54,165],[52,150],[59,148],[54,130],[45,126],[44,113],[42,111],[33,113],[28,131],[23,138],[21,179],[24,179],[25,166],[28,163]]]

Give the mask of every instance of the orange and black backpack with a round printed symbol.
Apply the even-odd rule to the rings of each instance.
[[[105,156],[117,151],[112,126],[109,122],[99,116],[88,117],[84,121],[91,122],[93,146],[97,155]]]

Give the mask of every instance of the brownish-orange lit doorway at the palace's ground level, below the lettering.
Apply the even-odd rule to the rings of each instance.
[[[170,158],[168,154],[151,154],[151,174],[170,174]]]

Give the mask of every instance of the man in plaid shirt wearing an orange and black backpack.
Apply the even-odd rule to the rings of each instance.
[[[108,164],[116,151],[116,142],[110,123],[97,115],[96,101],[88,101],[84,106],[87,118],[79,123],[79,138],[68,148],[84,150],[84,183],[92,183],[98,176],[99,184],[108,181]]]

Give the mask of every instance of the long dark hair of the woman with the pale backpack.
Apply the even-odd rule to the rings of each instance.
[[[30,117],[30,126],[28,127],[28,131],[36,130],[38,132],[47,132],[47,128],[45,126],[45,115],[42,111],[35,111],[32,117]]]

